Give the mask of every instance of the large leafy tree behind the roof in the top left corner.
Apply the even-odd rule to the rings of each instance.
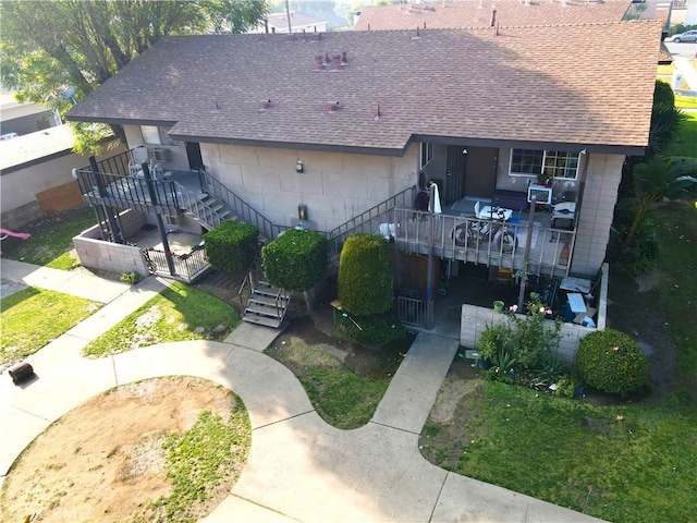
[[[0,83],[17,90],[17,101],[64,114],[160,37],[245,32],[266,10],[265,0],[3,0]],[[78,135],[95,127],[73,124]],[[120,126],[111,130],[125,142]],[[80,144],[89,148],[94,139]]]

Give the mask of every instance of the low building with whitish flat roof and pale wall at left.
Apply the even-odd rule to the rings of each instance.
[[[68,125],[58,125],[0,141],[0,182],[5,229],[85,204],[71,177],[87,159],[73,153],[75,136]],[[111,156],[124,150],[118,141],[105,144]]]

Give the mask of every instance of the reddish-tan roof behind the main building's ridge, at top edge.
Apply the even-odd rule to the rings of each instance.
[[[355,31],[489,27],[620,22],[631,0],[460,0],[360,8]]]

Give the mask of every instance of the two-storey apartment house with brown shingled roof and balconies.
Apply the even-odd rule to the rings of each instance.
[[[215,226],[213,194],[267,238],[302,220],[340,245],[382,222],[415,265],[595,277],[622,165],[648,143],[660,33],[609,22],[166,37],[68,118],[122,124],[129,147],[174,177],[205,167],[198,191],[151,182],[164,216]],[[414,209],[421,171],[439,185],[438,220]],[[93,205],[152,206],[133,197],[137,179],[78,174]],[[530,191],[540,205],[528,209]],[[548,207],[564,194],[568,230]],[[517,222],[502,229],[487,204]],[[473,227],[497,232],[470,239]]]

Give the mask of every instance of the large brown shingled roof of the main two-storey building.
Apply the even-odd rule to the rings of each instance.
[[[657,22],[623,22],[498,35],[167,37],[69,119],[173,125],[170,135],[189,142],[390,155],[414,137],[638,154],[648,142],[660,35]],[[316,56],[342,51],[348,63],[340,72],[314,71]],[[266,99],[271,106],[260,111]],[[339,110],[328,113],[335,101]]]

